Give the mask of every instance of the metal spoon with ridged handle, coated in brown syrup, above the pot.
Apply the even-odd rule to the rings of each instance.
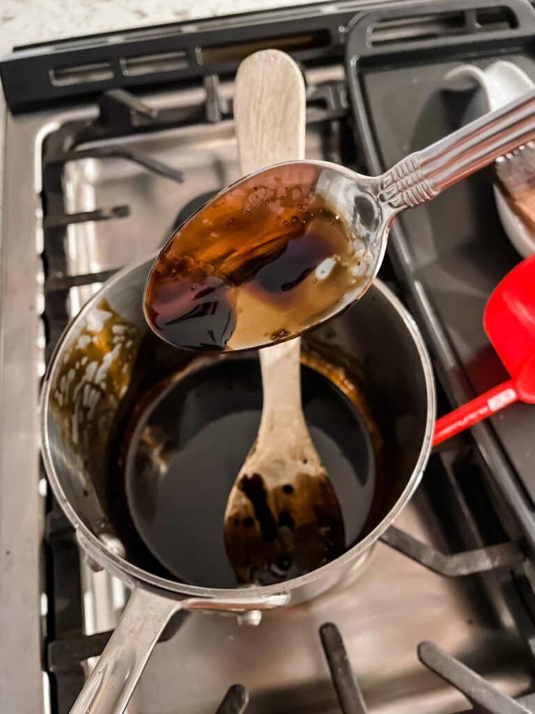
[[[300,335],[365,293],[394,216],[534,138],[530,91],[382,176],[293,161],[243,178],[163,249],[148,279],[148,322],[192,349],[258,348]]]

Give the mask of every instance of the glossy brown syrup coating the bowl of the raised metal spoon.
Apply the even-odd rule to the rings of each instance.
[[[149,277],[145,312],[173,345],[245,349],[302,333],[362,282],[358,237],[320,188],[322,167],[251,176],[190,218]],[[355,274],[357,273],[357,274]]]

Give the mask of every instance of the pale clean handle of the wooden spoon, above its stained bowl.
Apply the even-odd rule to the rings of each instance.
[[[234,120],[243,174],[271,164],[305,159],[307,102],[301,71],[275,49],[255,52],[240,64]],[[260,350],[264,402],[258,441],[272,434],[306,431],[301,404],[300,338]]]

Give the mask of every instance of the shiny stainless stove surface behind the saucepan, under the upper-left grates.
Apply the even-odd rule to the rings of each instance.
[[[108,142],[109,143],[109,142]],[[113,144],[117,144],[114,140]],[[71,274],[120,268],[156,251],[170,237],[180,208],[204,193],[240,178],[238,149],[230,121],[190,126],[121,141],[183,172],[183,183],[155,176],[123,159],[83,159],[66,164],[68,212],[130,206],[126,218],[68,226]],[[106,146],[101,142],[99,146]],[[307,156],[321,159],[321,138],[311,130]],[[86,286],[71,289],[71,314],[88,299]]]

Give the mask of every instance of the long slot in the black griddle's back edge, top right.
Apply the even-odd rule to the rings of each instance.
[[[517,24],[514,12],[507,7],[404,17],[377,22],[372,27],[370,44],[378,47],[400,42],[463,36],[477,30],[489,32],[513,29]]]

